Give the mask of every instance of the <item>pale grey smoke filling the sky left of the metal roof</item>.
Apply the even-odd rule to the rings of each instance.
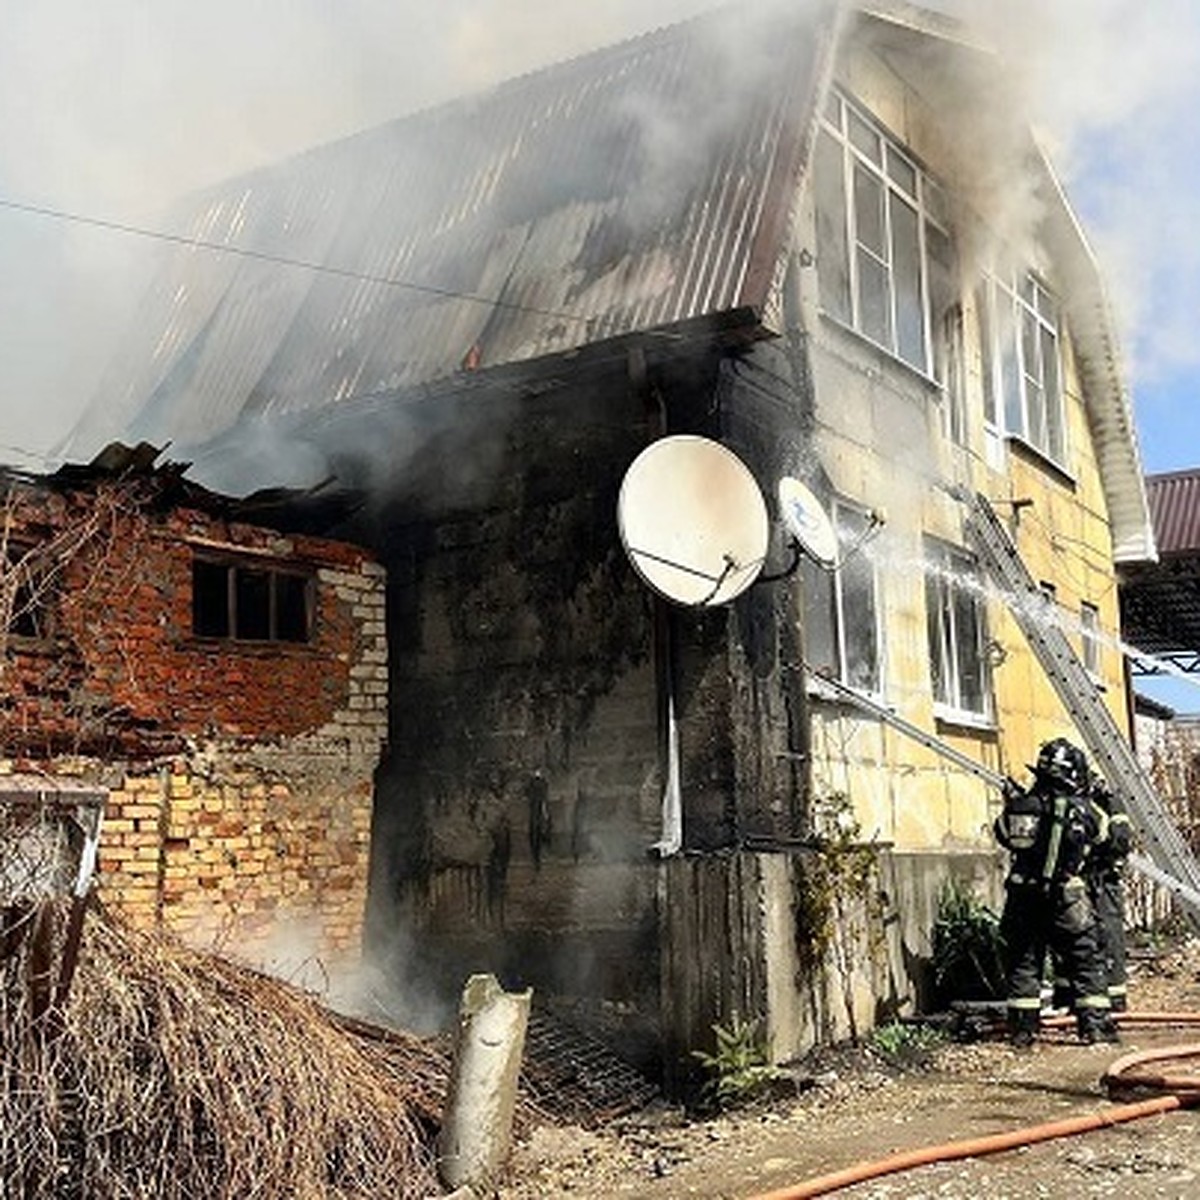
[[[179,196],[710,0],[41,0],[0,38],[0,200],[163,227]],[[0,460],[95,386],[154,242],[0,208]]]

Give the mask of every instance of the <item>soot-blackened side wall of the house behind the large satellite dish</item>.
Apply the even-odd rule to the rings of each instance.
[[[728,442],[767,491],[792,457],[794,389],[755,350],[652,362],[644,380],[593,366],[516,401],[475,395],[469,415],[446,400],[463,419],[440,422],[366,539],[389,576],[392,700],[368,947],[402,985],[449,1002],[494,971],[623,1033],[658,1025],[666,674],[683,851],[803,832],[794,581],[664,605],[617,524],[624,472],[664,428]]]

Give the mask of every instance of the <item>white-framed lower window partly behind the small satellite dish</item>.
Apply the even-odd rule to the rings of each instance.
[[[817,673],[862,691],[880,692],[875,566],[862,551],[871,516],[840,500],[833,502],[830,515],[841,544],[841,564],[827,571],[804,559],[804,658]]]

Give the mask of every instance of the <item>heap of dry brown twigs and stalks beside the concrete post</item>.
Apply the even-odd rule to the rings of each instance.
[[[35,1020],[19,934],[0,962],[0,1194],[437,1194],[448,1064],[427,1043],[362,1037],[295,988],[97,911],[61,1022]]]

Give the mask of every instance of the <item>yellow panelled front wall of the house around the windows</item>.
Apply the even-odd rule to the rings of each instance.
[[[860,47],[842,64],[839,83],[911,148],[929,172],[953,192],[947,139],[925,100],[901,76]],[[925,92],[932,96],[932,90]],[[961,214],[961,209],[959,209]],[[811,206],[802,209],[800,248],[815,244]],[[978,235],[973,246],[978,247]],[[1025,247],[1030,251],[1030,247]],[[1033,251],[1031,265],[1054,287],[1052,264]],[[1014,509],[997,503],[1033,577],[1054,583],[1064,628],[1080,646],[1081,601],[1099,610],[1105,700],[1124,727],[1121,656],[1117,650],[1117,595],[1104,497],[1084,400],[1070,354],[1063,379],[1068,425],[1064,475],[1030,451],[1008,446],[1003,470],[988,466],[977,313],[977,278],[964,271],[962,311],[970,404],[970,445],[942,434],[936,386],[887,353],[841,329],[818,311],[816,272],[798,271],[797,300],[811,331],[815,444],[833,490],[878,510],[886,524],[869,547],[883,613],[883,698],[907,720],[935,733],[992,769],[1026,778],[1045,738],[1073,728],[1051,684],[1033,658],[1003,599],[988,595],[988,631],[995,642],[992,683],[995,726],[965,728],[940,724],[932,706],[925,613],[923,540],[940,538],[964,546],[962,506],[940,485],[965,485],[995,502],[1021,498]],[[1061,344],[1069,330],[1061,330]],[[992,846],[991,820],[998,797],[982,781],[878,720],[845,706],[814,701],[814,784],[818,811],[833,811],[848,797],[862,835],[900,850]]]

